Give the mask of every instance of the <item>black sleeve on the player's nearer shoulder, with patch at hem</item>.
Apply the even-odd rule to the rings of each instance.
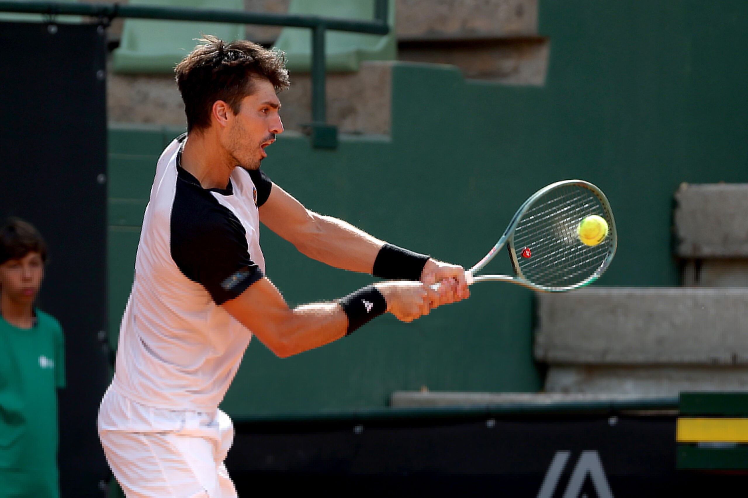
[[[263,271],[250,258],[246,232],[236,215],[209,193],[180,187],[191,192],[178,192],[174,199],[171,257],[187,278],[202,284],[222,305],[263,278]]]

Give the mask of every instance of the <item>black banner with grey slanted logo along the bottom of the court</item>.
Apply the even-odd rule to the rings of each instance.
[[[236,429],[227,467],[240,496],[691,497],[744,480],[675,470],[675,416],[424,415]]]

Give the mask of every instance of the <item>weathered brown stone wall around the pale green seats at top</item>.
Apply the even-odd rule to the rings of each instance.
[[[105,3],[104,0],[97,0]],[[126,0],[120,3],[126,3]],[[245,0],[245,9],[283,13],[289,0]],[[451,64],[466,78],[504,84],[542,85],[548,67],[548,40],[537,34],[537,0],[399,0],[399,60]],[[271,46],[281,28],[247,25],[248,40]],[[111,46],[122,19],[108,29]],[[364,63],[355,74],[328,74],[328,122],[342,133],[389,134],[390,66]],[[311,120],[311,83],[307,73],[292,75],[281,96],[288,130],[305,131]],[[120,75],[108,72],[111,122],[186,125],[183,104],[170,75]]]

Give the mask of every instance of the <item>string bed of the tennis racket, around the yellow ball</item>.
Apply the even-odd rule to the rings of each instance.
[[[612,218],[592,190],[567,185],[551,190],[525,212],[514,232],[518,253],[530,249],[530,257],[518,254],[521,275],[533,284],[560,289],[595,278],[612,250],[607,237],[597,246],[586,246],[577,234],[579,223],[597,214]]]

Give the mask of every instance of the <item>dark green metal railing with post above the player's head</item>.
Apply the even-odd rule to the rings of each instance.
[[[302,14],[277,14],[245,12],[239,10],[194,9],[159,5],[120,5],[64,3],[58,1],[7,1],[0,0],[0,12],[37,13],[55,16],[91,16],[108,24],[117,17],[133,19],[162,19],[168,21],[226,22],[229,24],[252,24],[309,28],[312,37],[312,144],[315,147],[337,147],[337,128],[327,124],[325,99],[325,31],[352,31],[355,33],[385,35],[390,32],[387,24],[387,0],[375,0],[374,19],[338,19]]]

